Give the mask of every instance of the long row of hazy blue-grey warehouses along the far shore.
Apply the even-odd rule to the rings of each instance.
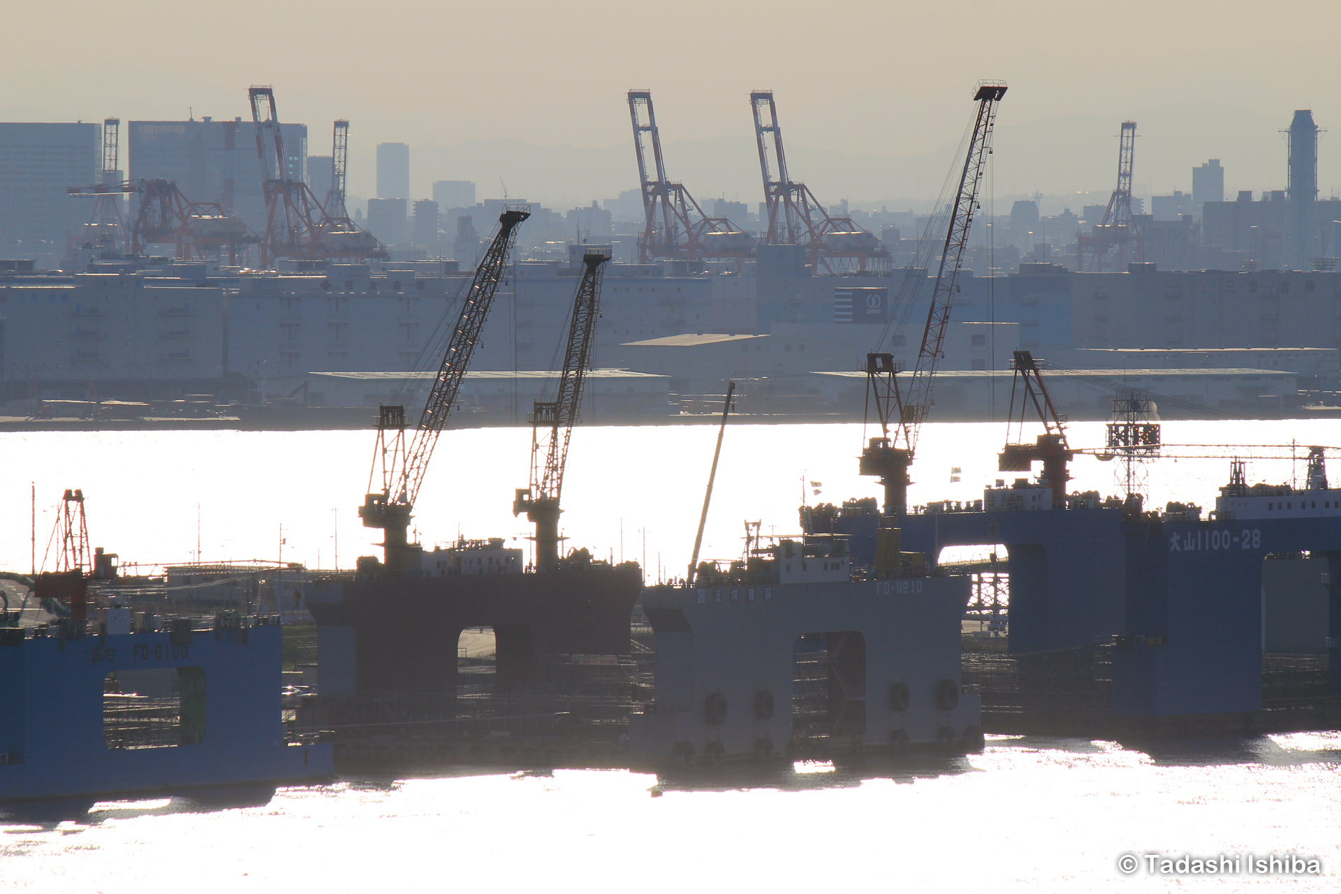
[[[473,371],[555,367],[575,268],[519,261],[512,269]],[[406,373],[422,367],[425,346],[436,350],[433,335],[469,277],[455,261],[284,261],[275,272],[99,261],[94,271],[0,272],[7,399],[25,399],[34,389],[82,398],[91,383],[105,398],[260,401],[294,397],[302,377]],[[771,413],[787,411],[787,395],[818,413],[805,397],[822,393],[814,377],[861,369],[882,339],[896,361],[915,362],[929,288],[902,310],[870,307],[897,303],[888,295],[900,285],[894,275],[711,275],[669,261],[610,264],[594,363],[660,377],[662,394],[685,399],[720,394],[736,379],[756,406],[758,395],[770,395]],[[1026,263],[1007,276],[960,276],[941,369],[1003,371],[1010,353],[1026,348],[1062,369],[1252,369],[1289,374],[1309,391],[1336,391],[1337,302],[1337,272],[1188,273],[1136,264],[1125,273],[1075,273]],[[778,307],[799,322],[778,320]],[[953,377],[945,387],[953,389]],[[366,397],[347,397],[326,379],[310,379],[300,393],[329,406],[363,406]],[[1204,397],[1215,405],[1239,399]],[[937,406],[949,399],[937,398]]]

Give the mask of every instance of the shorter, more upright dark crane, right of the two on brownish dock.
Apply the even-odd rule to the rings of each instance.
[[[559,560],[559,497],[563,493],[563,470],[569,458],[573,426],[582,407],[582,382],[591,362],[595,343],[595,320],[601,306],[602,265],[609,253],[582,256],[582,280],[573,299],[569,346],[563,354],[563,371],[552,401],[535,401],[531,413],[531,485],[519,488],[512,515],[526,512],[535,524],[535,568],[550,571]],[[540,437],[540,429],[546,434]],[[540,456],[544,464],[540,464]]]

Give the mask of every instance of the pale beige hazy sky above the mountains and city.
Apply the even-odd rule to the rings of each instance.
[[[5,17],[4,119],[245,117],[270,83],[314,154],[338,117],[363,149],[622,145],[629,87],[654,91],[666,139],[748,137],[746,94],[767,87],[794,145],[898,158],[957,141],[980,78],[1010,83],[1002,125],[1218,103],[1341,127],[1336,3],[48,0]]]

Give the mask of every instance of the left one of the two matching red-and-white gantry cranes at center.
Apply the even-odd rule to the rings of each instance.
[[[661,131],[657,129],[650,91],[629,91],[629,117],[633,119],[633,150],[638,157],[638,180],[642,184],[644,229],[638,237],[641,263],[646,264],[657,257],[695,261],[704,257],[752,256],[754,237],[750,233],[725,217],[708,217],[684,184],[666,178]],[[650,142],[650,147],[644,141]],[[653,164],[650,174],[649,150]]]

